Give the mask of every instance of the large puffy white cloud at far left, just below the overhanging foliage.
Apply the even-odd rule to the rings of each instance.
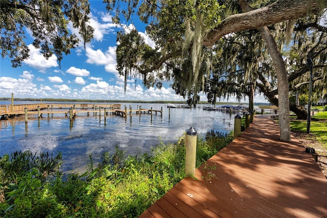
[[[52,55],[48,60],[40,53],[40,49],[36,49],[33,45],[29,45],[30,57],[24,60],[28,66],[38,69],[44,73],[47,68],[58,67],[57,57]]]

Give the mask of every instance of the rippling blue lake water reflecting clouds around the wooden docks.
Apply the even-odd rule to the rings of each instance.
[[[5,102],[10,104],[10,102]],[[27,102],[20,102],[27,103]],[[28,102],[32,103],[32,102]],[[39,102],[38,102],[39,103]],[[47,103],[47,102],[43,102]],[[56,102],[51,102],[56,103]],[[80,102],[79,102],[80,103]],[[87,102],[86,102],[87,103]],[[2,102],[4,104],[4,102]],[[19,104],[15,102],[15,104]],[[90,103],[95,104],[95,103]],[[121,103],[133,110],[138,105],[142,108],[161,110],[161,113],[127,116],[108,115],[106,120],[102,113],[90,116],[78,114],[70,125],[69,118],[64,114],[49,115],[43,112],[43,118],[30,119],[25,124],[24,116],[15,119],[1,120],[0,126],[0,156],[16,150],[31,150],[42,152],[62,151],[63,171],[84,172],[85,166],[92,155],[94,163],[101,160],[101,154],[109,151],[113,154],[118,145],[126,151],[126,155],[136,152],[150,152],[151,147],[160,143],[176,142],[190,127],[198,132],[198,137],[215,130],[229,133],[233,129],[235,114],[229,115],[218,111],[204,111],[201,108],[167,108],[166,104]]]

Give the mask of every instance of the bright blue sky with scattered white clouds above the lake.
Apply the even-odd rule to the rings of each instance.
[[[124,77],[115,69],[116,32],[123,27],[112,24],[102,1],[90,1],[90,25],[95,29],[90,43],[81,41],[71,54],[63,56],[60,67],[57,57],[53,55],[46,60],[39,49],[32,46],[33,38],[26,31],[26,43],[30,57],[21,67],[12,68],[8,57],[0,59],[0,97],[15,98],[65,98],[92,100],[142,100],[142,101],[182,101],[164,82],[163,87],[146,89],[141,79],[130,78],[124,92]],[[139,34],[145,37],[149,46],[154,42],[147,36],[144,25],[137,20],[133,24]],[[125,24],[128,31],[133,26]],[[70,31],[78,35],[71,24]],[[205,94],[200,93],[200,101],[207,101]],[[217,100],[219,101],[219,100]],[[235,98],[221,99],[224,102],[237,102]],[[242,100],[242,102],[247,100]],[[255,102],[266,102],[263,96],[257,96]]]

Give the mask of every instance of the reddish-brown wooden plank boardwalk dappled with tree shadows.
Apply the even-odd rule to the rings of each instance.
[[[327,217],[327,179],[305,147],[256,115],[240,137],[140,217]]]

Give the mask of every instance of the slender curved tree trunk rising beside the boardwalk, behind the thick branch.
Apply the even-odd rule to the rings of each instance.
[[[240,0],[239,4],[243,11],[253,10],[245,0]],[[291,141],[290,128],[290,101],[288,90],[288,78],[284,59],[279,51],[276,41],[267,27],[259,29],[261,37],[266,42],[269,54],[274,63],[278,82],[278,118],[279,118],[279,134],[282,141]]]

